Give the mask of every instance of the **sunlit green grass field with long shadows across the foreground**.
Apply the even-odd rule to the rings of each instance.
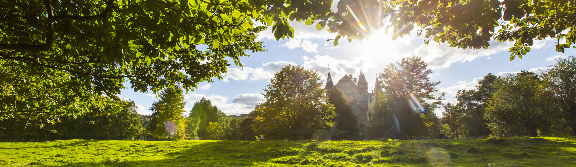
[[[576,166],[575,137],[0,143],[0,166]]]

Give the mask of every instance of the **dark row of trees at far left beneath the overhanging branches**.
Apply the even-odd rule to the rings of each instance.
[[[26,128],[0,128],[0,141],[131,140],[144,132],[142,126],[146,118],[138,115],[134,101],[118,100],[109,103],[103,109],[106,112],[104,114],[94,111],[81,116],[61,117],[54,120],[54,123],[41,124],[41,127],[29,125]],[[17,120],[6,120],[5,123],[10,121]]]

